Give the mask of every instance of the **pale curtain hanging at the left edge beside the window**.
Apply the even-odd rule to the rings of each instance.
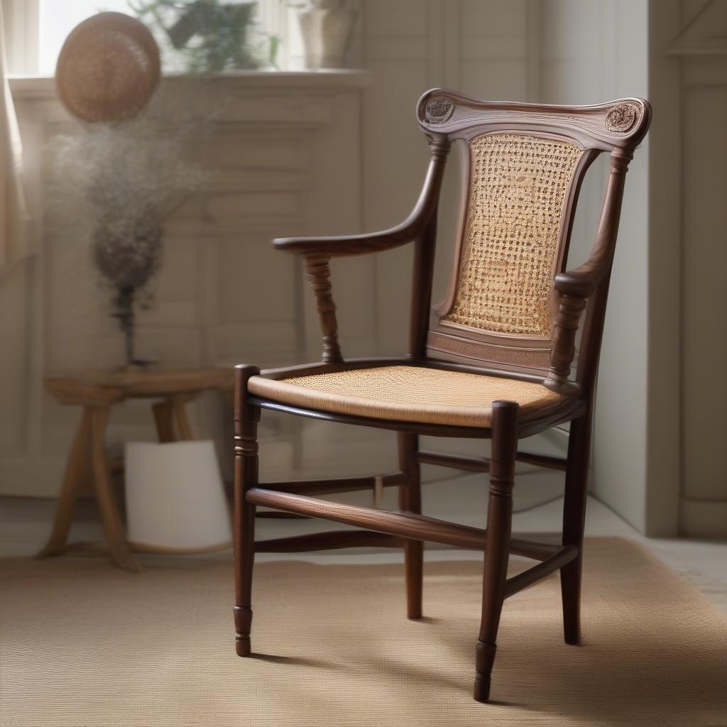
[[[31,216],[23,189],[23,144],[7,82],[5,26],[0,4],[0,275],[33,252]]]

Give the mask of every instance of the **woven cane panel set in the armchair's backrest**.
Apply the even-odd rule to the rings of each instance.
[[[550,337],[563,214],[583,155],[526,134],[469,142],[470,191],[454,305],[442,318],[503,334]]]

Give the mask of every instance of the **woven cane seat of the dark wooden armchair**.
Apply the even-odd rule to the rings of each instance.
[[[248,388],[254,395],[306,409],[460,427],[489,427],[493,401],[516,401],[523,414],[563,401],[537,382],[423,366],[379,366],[281,380],[255,376]]]

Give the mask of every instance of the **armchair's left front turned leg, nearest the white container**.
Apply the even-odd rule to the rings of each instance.
[[[252,567],[255,558],[255,507],[245,493],[257,485],[257,422],[260,409],[247,404],[247,380],[260,374],[256,366],[235,368],[235,649],[250,655]]]

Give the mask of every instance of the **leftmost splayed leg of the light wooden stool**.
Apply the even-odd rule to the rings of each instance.
[[[55,511],[53,529],[48,542],[43,550],[38,553],[39,558],[48,555],[63,553],[65,544],[68,541],[68,533],[71,531],[73,521],[73,510],[76,507],[76,499],[84,486],[89,475],[89,453],[91,445],[91,410],[84,408],[83,416],[76,438],[71,447],[71,454],[68,455],[68,463],[65,465],[63,485],[58,497],[58,506]]]

